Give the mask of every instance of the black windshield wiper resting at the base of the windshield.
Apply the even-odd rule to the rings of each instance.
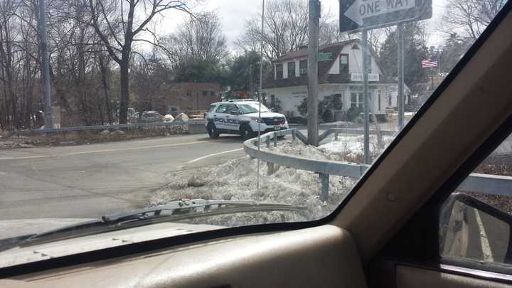
[[[33,235],[23,240],[20,247],[38,245],[56,240],[66,240],[87,235],[134,228],[137,226],[171,222],[191,218],[225,215],[233,213],[271,212],[271,211],[304,211],[304,206],[257,201],[231,200],[178,200],[163,206],[154,206],[127,213],[103,215],[100,220],[87,221],[46,233]]]

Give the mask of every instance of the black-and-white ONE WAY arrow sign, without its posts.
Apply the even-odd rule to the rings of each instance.
[[[341,32],[428,18],[432,18],[432,0],[340,0]]]

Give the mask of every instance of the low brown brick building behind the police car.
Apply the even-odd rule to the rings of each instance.
[[[163,85],[153,97],[152,107],[161,114],[208,110],[220,101],[220,84],[178,82]]]

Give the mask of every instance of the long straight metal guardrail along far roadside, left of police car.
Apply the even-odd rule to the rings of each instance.
[[[201,120],[201,123],[203,123],[203,122],[204,122],[204,120]],[[134,129],[134,128],[141,128],[141,127],[171,127],[171,126],[183,126],[183,125],[188,125],[188,124],[196,124],[196,121],[190,120],[188,122],[154,122],[154,123],[62,127],[62,128],[57,128],[57,129],[19,130],[19,131],[12,132],[12,135],[46,134],[46,133],[76,132],[76,131],[95,131],[95,130],[119,130],[119,129]]]

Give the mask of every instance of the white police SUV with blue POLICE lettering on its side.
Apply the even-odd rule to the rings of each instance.
[[[238,134],[243,139],[250,139],[257,133],[258,124],[260,124],[261,134],[288,129],[286,117],[272,112],[265,105],[261,105],[260,119],[259,107],[260,103],[255,100],[213,103],[206,113],[206,130],[213,139],[218,138],[220,134]]]

